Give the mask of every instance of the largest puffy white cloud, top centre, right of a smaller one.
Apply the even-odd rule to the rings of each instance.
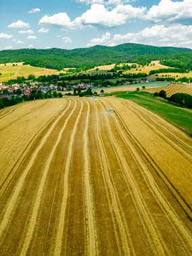
[[[82,25],[112,28],[126,24],[128,20],[141,18],[145,11],[146,7],[137,8],[132,5],[117,5],[108,11],[104,5],[94,4],[78,19]]]

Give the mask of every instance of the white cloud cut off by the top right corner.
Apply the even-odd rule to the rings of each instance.
[[[161,0],[153,5],[146,14],[146,20],[153,22],[183,22],[192,19],[192,1]]]

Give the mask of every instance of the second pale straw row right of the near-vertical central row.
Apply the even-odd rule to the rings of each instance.
[[[105,108],[102,107],[102,109],[103,111],[105,111],[106,107]],[[125,179],[125,182],[127,184],[127,189],[130,191],[130,188],[131,188],[130,194],[131,194],[131,197],[133,197],[132,201],[135,203],[135,209],[137,212],[141,213],[141,222],[143,222],[143,224],[145,225],[146,236],[149,239],[149,245],[150,245],[150,241],[153,241],[152,245],[154,245],[154,250],[155,250],[154,253],[158,255],[164,255],[164,250],[168,251],[168,249],[166,247],[164,248],[164,243],[161,239],[160,233],[158,232],[158,228],[156,227],[156,224],[152,216],[150,215],[148,206],[146,205],[145,200],[143,199],[143,196],[139,191],[139,187],[135,182],[135,179],[131,173],[129,165],[127,164],[125,156],[123,155],[121,148],[119,148],[118,141],[115,139],[113,135],[110,122],[106,117],[104,119],[106,121],[108,137],[112,142],[114,151],[116,152],[119,166],[121,166],[121,170],[123,172],[123,178]],[[123,139],[122,135],[121,135],[121,139]],[[150,236],[148,236],[148,234],[150,234]]]

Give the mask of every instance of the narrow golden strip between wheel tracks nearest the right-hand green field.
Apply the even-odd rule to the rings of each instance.
[[[180,154],[187,158],[187,160],[192,160],[192,148],[189,144],[176,137],[166,128],[158,125],[158,123],[152,118],[152,116],[149,116],[144,111],[139,110],[139,107],[137,107],[136,104],[133,104],[132,102],[129,102],[130,106],[125,102],[123,102],[123,104],[133,113],[135,113],[135,115],[137,115],[137,117],[139,117],[139,119],[141,119],[143,123],[146,123],[148,127],[150,127],[150,129],[152,129],[156,134],[160,135],[162,139],[169,143],[172,148],[177,150]],[[186,152],[182,148],[188,150],[188,152]]]

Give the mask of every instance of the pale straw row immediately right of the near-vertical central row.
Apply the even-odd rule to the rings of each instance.
[[[125,220],[125,216],[123,215],[123,210],[121,207],[121,203],[119,200],[119,195],[117,193],[117,189],[115,186],[115,182],[113,181],[113,177],[111,175],[110,164],[108,162],[108,157],[106,156],[106,152],[104,150],[104,145],[102,142],[102,137],[100,134],[100,118],[98,117],[98,112],[96,111],[96,141],[98,150],[100,152],[100,164],[102,166],[102,174],[105,183],[106,193],[110,197],[110,201],[108,202],[110,205],[111,212],[115,214],[115,222],[117,222],[117,226],[119,229],[118,238],[119,241],[117,242],[121,245],[121,254],[123,255],[130,255],[131,250],[131,241],[129,231],[127,230],[127,222]],[[118,239],[117,238],[117,239]],[[120,248],[119,248],[120,249]]]

